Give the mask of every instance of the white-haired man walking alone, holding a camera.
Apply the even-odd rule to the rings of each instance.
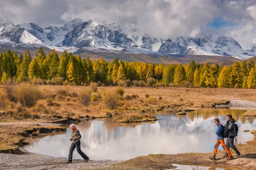
[[[72,130],[70,141],[73,141],[73,142],[69,149],[69,160],[66,163],[72,163],[73,151],[75,150],[75,148],[77,148],[77,152],[82,156],[82,158],[84,159],[84,162],[88,162],[89,160],[88,156],[86,156],[86,154],[84,154],[84,152],[81,151],[80,139],[82,136],[79,130],[76,128],[75,124],[71,124],[69,127]]]

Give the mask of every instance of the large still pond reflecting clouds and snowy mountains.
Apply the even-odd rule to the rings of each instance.
[[[256,129],[256,119],[242,116],[244,110],[209,109],[177,116],[156,112],[159,118],[150,123],[119,123],[110,118],[88,120],[77,124],[82,135],[81,149],[91,160],[128,160],[148,154],[178,154],[186,152],[209,153],[216,142],[216,125],[213,119],[226,124],[226,115],[232,114],[239,127],[238,142],[253,139],[250,132]],[[67,125],[66,127],[68,127]],[[65,133],[48,134],[30,141],[26,149],[55,157],[67,157],[71,130]],[[222,147],[219,147],[222,149]],[[74,159],[80,155],[74,151]]]

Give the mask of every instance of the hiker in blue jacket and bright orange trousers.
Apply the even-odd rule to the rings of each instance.
[[[218,126],[217,130],[216,130],[216,135],[217,135],[217,141],[216,144],[214,146],[214,151],[212,153],[212,156],[209,156],[209,158],[211,160],[215,160],[216,159],[216,155],[217,155],[217,151],[218,151],[218,147],[221,144],[222,148],[226,150],[226,152],[228,153],[228,158],[227,160],[232,160],[234,159],[234,157],[232,156],[232,154],[230,153],[230,151],[228,150],[228,148],[226,147],[223,137],[222,137],[222,130],[223,127],[220,124],[220,120],[218,118],[214,119],[214,124]]]

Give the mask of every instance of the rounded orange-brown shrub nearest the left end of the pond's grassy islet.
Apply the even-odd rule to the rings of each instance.
[[[105,95],[102,96],[104,103],[108,109],[116,109],[118,106],[118,102],[120,100],[120,96],[115,92],[106,91]]]

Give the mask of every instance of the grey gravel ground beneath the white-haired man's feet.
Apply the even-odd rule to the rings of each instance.
[[[117,163],[118,161],[89,160],[84,163],[83,160],[73,160],[73,163],[66,164],[67,158],[57,158],[36,153],[27,152],[20,148],[25,154],[2,154],[0,153],[0,169],[12,170],[71,170],[79,168],[106,167]]]

